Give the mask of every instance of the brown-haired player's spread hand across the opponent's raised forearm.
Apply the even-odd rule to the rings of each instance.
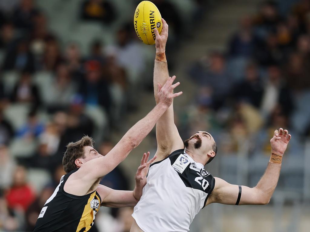
[[[180,82],[172,84],[175,78],[176,76],[169,77],[163,86],[161,86],[161,84],[157,84],[158,101],[167,107],[171,105],[173,98],[178,97],[183,93],[182,91],[173,93],[173,90],[180,84]]]

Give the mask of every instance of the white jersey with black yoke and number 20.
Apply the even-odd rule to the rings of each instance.
[[[215,179],[184,149],[150,166],[132,217],[144,232],[186,232],[205,206]]]

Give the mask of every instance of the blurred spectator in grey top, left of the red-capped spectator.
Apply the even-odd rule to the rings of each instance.
[[[56,69],[55,79],[44,93],[49,109],[52,111],[67,109],[76,89],[77,86],[72,80],[68,65],[60,63]]]

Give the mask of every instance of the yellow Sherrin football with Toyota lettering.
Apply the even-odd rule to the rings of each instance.
[[[162,16],[153,2],[142,1],[135,10],[135,32],[139,39],[147,45],[155,44],[154,28],[162,31]]]

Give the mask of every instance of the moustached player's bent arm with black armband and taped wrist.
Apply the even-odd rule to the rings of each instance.
[[[253,187],[238,186],[227,183],[215,177],[215,188],[208,198],[206,205],[210,203],[221,204],[268,204],[275,190],[281,170],[282,156],[286,150],[291,135],[282,128],[276,130],[271,143],[271,157],[263,177]]]

